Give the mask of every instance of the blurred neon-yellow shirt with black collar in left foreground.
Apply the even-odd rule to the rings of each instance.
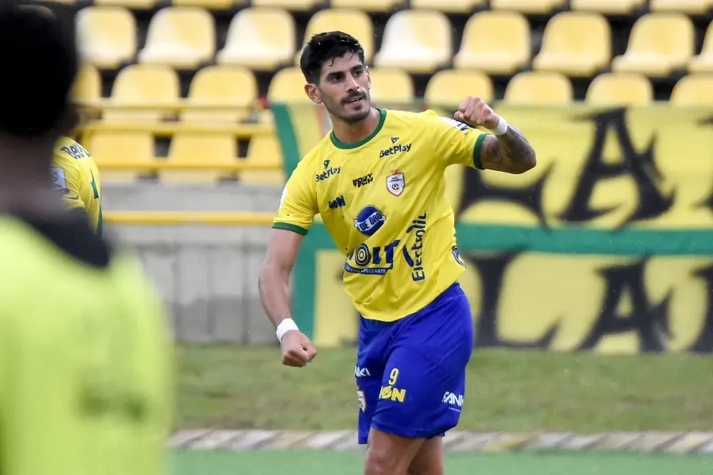
[[[0,473],[168,475],[163,306],[137,261],[71,218],[0,216]]]

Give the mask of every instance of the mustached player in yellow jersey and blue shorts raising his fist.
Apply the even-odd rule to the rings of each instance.
[[[439,436],[458,423],[473,348],[444,171],[523,173],[535,151],[479,98],[463,100],[456,120],[371,107],[364,50],[345,33],[314,36],[300,67],[305,92],[334,128],[289,177],[262,266],[260,295],[282,362],[300,367],[316,354],[290,318],[287,285],[319,213],[346,256],[344,287],[361,315],[355,375],[365,473],[442,474]]]

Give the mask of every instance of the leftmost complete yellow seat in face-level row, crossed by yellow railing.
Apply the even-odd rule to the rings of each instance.
[[[114,80],[112,105],[172,106],[178,103],[178,75],[168,66],[135,64],[119,71]],[[174,117],[171,110],[131,110],[115,108],[103,113],[105,120],[161,120]]]

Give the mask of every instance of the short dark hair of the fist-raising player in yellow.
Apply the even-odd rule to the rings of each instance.
[[[349,53],[355,54],[361,64],[364,64],[364,48],[354,36],[342,31],[319,33],[312,36],[304,46],[302,57],[299,58],[299,68],[308,83],[319,85],[324,63]]]

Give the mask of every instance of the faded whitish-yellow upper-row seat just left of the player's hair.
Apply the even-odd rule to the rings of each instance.
[[[237,64],[257,71],[273,71],[292,61],[294,20],[282,9],[250,8],[230,21],[219,64]]]

